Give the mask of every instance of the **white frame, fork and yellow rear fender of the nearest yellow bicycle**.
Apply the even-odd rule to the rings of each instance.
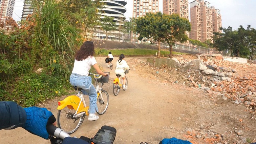
[[[100,95],[101,96],[101,100],[104,102],[104,100],[102,98],[102,94],[101,94],[101,89],[102,89],[101,87],[102,87],[102,85],[100,84],[100,87],[99,87],[98,82],[96,80],[96,88],[97,87],[98,87],[97,99],[98,99],[98,97]],[[58,102],[57,110],[62,110],[66,106],[69,109],[75,109],[76,110],[75,116],[79,116],[79,115],[82,115],[84,113],[86,113],[86,115],[89,115],[89,113],[88,113],[89,106],[86,106],[85,100],[84,100],[84,96],[83,96],[83,93],[81,91],[79,91],[77,93],[77,95],[70,95],[70,96],[66,97],[64,100],[59,101]]]

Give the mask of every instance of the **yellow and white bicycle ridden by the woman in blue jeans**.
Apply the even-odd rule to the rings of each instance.
[[[108,83],[109,74],[105,77],[99,74],[90,74],[94,75],[94,79],[96,80],[96,91],[98,95],[96,112],[101,115],[107,111],[109,104],[108,92],[102,89],[102,85]],[[89,106],[85,104],[82,93],[83,89],[76,86],[73,86],[73,88],[78,91],[77,95],[70,95],[64,100],[59,101],[57,107],[58,127],[68,134],[74,133],[83,123],[84,117],[89,115]]]

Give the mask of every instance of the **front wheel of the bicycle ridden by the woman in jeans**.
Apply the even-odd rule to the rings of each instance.
[[[102,97],[101,97],[102,96]],[[104,114],[108,109],[109,104],[109,95],[107,91],[101,91],[101,96],[99,95],[97,99],[97,107],[98,107],[98,114]]]

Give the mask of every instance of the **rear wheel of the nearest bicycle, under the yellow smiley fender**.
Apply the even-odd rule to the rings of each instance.
[[[70,109],[68,106],[58,111],[57,124],[64,132],[68,134],[74,133],[84,120],[84,114],[75,118],[75,109]]]

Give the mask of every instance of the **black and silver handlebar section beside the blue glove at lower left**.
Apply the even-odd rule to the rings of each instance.
[[[57,138],[60,139],[64,139],[66,137],[71,137],[69,134],[67,134],[66,132],[64,132],[62,129],[52,125],[52,124],[48,124],[46,126],[46,130],[50,135],[53,135]]]

